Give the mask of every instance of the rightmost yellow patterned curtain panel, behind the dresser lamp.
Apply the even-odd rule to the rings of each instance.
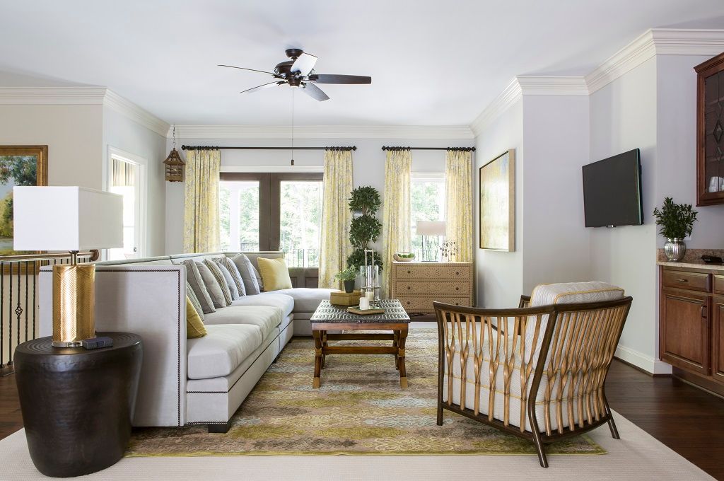
[[[458,244],[458,262],[473,262],[473,153],[445,156],[445,239]]]

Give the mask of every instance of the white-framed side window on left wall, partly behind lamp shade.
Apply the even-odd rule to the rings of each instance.
[[[138,259],[143,256],[142,165],[112,154],[108,191],[123,196],[123,247],[108,249],[108,259]]]

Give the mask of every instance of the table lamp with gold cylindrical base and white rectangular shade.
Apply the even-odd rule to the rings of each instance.
[[[123,246],[123,197],[84,187],[14,187],[15,251],[70,251],[53,266],[53,346],[96,337],[96,265],[77,254]]]

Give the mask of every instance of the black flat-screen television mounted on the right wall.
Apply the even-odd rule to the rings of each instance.
[[[641,154],[639,149],[584,165],[586,227],[641,225]]]

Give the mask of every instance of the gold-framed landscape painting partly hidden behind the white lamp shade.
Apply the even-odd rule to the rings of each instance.
[[[24,254],[12,248],[12,188],[48,185],[48,146],[0,146],[0,255]]]

